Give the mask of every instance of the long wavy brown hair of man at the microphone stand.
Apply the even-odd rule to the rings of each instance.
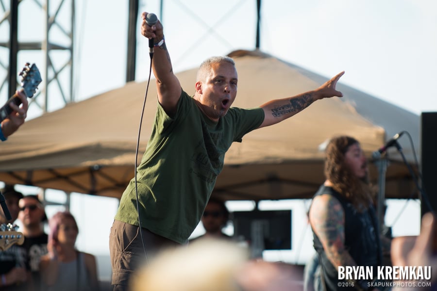
[[[350,136],[337,136],[326,147],[325,177],[333,188],[347,198],[358,211],[367,209],[371,203],[371,189],[368,177],[358,178],[346,165],[345,155],[349,147],[359,142]]]

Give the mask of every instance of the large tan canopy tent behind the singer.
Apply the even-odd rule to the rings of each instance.
[[[238,107],[256,107],[273,98],[297,95],[328,79],[259,51],[230,55],[238,70],[234,103]],[[190,95],[196,71],[177,74]],[[234,143],[226,155],[216,193],[226,199],[309,198],[324,180],[323,145],[339,134],[358,139],[369,157],[384,144],[386,135],[397,131],[407,130],[417,145],[419,116],[341,83],[337,88],[344,93],[343,98],[319,100],[285,122],[254,130],[243,143]],[[0,181],[120,197],[134,177],[145,89],[146,82],[130,82],[27,121],[1,145]],[[151,81],[138,161],[150,136],[156,103]],[[409,144],[404,152],[412,161]],[[407,197],[414,191],[410,175],[402,162],[396,162],[399,156],[390,157],[393,162],[387,168],[386,196]],[[377,183],[374,167],[371,174]]]

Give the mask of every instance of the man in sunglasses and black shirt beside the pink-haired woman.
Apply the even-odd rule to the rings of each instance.
[[[26,268],[32,274],[33,290],[39,290],[39,261],[47,254],[48,235],[44,233],[47,215],[37,195],[24,196],[18,206],[18,219],[23,225],[24,243],[21,247],[26,251]]]

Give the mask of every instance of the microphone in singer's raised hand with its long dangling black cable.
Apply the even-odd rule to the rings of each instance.
[[[156,24],[156,22],[158,22],[158,18],[156,17],[156,15],[154,15],[153,13],[149,13],[146,16],[146,23],[149,26],[152,26],[154,24]],[[143,238],[143,229],[142,229],[142,225],[141,225],[141,217],[140,217],[140,212],[139,212],[139,196],[138,196],[138,182],[137,182],[137,178],[136,178],[136,173],[137,173],[137,160],[138,160],[138,152],[139,152],[139,140],[140,140],[140,135],[141,135],[141,124],[143,123],[143,117],[144,117],[144,111],[146,109],[146,100],[147,100],[147,93],[149,92],[149,84],[150,84],[150,78],[151,78],[151,68],[152,68],[152,61],[153,61],[153,38],[149,39],[149,55],[150,55],[150,67],[149,67],[149,78],[147,80],[147,86],[146,86],[146,93],[144,95],[144,102],[143,102],[143,108],[141,110],[141,117],[140,117],[140,123],[139,123],[139,127],[138,127],[138,138],[137,138],[137,142],[136,142],[136,150],[135,150],[135,162],[134,162],[134,179],[135,179],[135,196],[136,196],[136,212],[138,214],[138,227],[139,227],[139,235],[141,237],[141,243],[143,245],[143,250],[144,250],[144,255],[146,256],[146,262],[148,262],[148,258],[147,258],[147,251],[146,251],[146,243],[144,242],[144,238]]]

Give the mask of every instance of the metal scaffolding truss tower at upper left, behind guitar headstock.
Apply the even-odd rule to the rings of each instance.
[[[14,95],[19,85],[17,67],[23,59],[23,64],[35,63],[43,79],[30,100],[33,117],[74,101],[74,2],[0,0],[0,32],[9,32],[0,34],[0,100]]]

